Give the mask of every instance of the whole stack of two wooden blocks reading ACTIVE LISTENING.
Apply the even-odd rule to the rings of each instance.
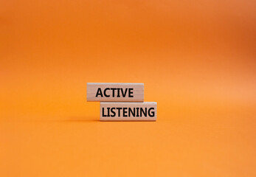
[[[144,83],[87,83],[87,101],[100,102],[100,121],[156,121],[156,102],[144,102]]]

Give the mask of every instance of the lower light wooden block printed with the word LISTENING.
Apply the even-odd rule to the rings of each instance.
[[[156,121],[156,102],[100,103],[100,121]]]

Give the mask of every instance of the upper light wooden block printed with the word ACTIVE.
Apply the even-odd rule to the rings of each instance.
[[[87,101],[143,102],[144,83],[87,83]]]

